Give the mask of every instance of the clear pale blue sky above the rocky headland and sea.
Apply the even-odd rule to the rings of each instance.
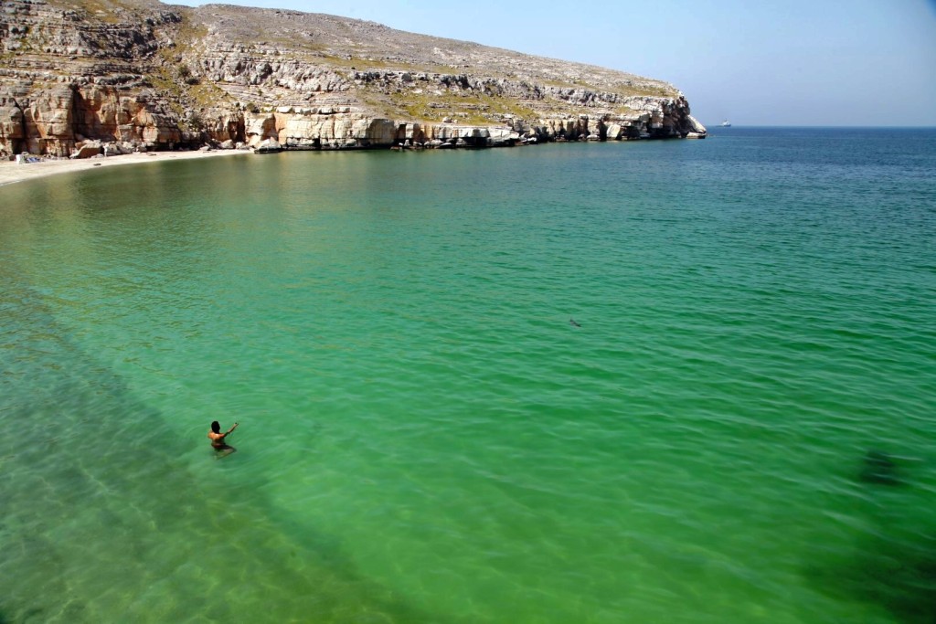
[[[666,80],[709,125],[936,126],[936,0],[227,3],[343,15]]]

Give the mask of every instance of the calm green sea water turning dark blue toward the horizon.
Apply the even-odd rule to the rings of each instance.
[[[0,187],[0,622],[932,622],[936,131],[713,135]]]

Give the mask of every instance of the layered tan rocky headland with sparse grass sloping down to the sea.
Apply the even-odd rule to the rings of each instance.
[[[291,10],[4,0],[0,152],[704,137],[660,80]]]

